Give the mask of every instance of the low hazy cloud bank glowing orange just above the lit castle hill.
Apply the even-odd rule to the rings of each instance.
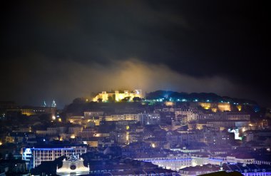
[[[128,58],[126,61],[111,61],[109,66],[100,63],[84,64],[73,60],[51,61],[41,56],[35,59],[16,61],[19,66],[31,63],[24,68],[13,67],[9,62],[10,73],[18,72],[16,78],[5,83],[9,89],[2,90],[2,95],[9,98],[41,104],[42,100],[55,99],[60,105],[71,102],[75,97],[91,95],[101,90],[142,88],[143,91],[156,89],[216,92],[232,95],[239,92],[230,81],[213,76],[195,78],[172,71],[163,64],[151,64]],[[32,66],[32,64],[34,66]],[[35,74],[33,74],[35,73]],[[17,87],[19,86],[19,88]],[[10,94],[10,92],[14,94]]]

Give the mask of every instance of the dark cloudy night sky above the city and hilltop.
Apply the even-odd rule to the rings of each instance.
[[[271,106],[270,21],[264,1],[1,2],[0,100],[141,88]]]

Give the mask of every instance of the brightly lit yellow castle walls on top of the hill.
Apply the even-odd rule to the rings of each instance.
[[[108,98],[111,97],[112,100],[116,100],[116,101],[120,101],[123,98],[127,98],[130,97],[130,100],[133,100],[133,98],[138,97],[138,98],[142,98],[142,90],[140,89],[136,89],[134,91],[128,91],[128,90],[124,90],[124,91],[118,91],[116,90],[114,93],[107,93],[106,91],[102,91],[101,93],[98,93],[98,95],[96,95],[95,98],[93,98],[93,101],[98,101],[99,98],[101,98],[101,100],[103,100],[103,102],[108,101]]]

